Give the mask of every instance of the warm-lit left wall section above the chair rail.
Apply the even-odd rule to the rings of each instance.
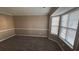
[[[14,28],[12,16],[0,15],[0,30]]]

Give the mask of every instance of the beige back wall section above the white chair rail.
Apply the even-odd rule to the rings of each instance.
[[[16,28],[47,29],[47,16],[14,16]]]

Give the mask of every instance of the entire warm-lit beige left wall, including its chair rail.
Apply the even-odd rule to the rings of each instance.
[[[14,22],[12,16],[0,15],[0,40],[14,35]]]

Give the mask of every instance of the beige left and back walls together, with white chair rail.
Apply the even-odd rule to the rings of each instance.
[[[0,15],[0,41],[14,34],[46,37],[47,31],[48,16]]]

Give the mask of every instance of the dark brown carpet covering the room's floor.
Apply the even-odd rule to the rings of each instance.
[[[0,42],[0,51],[61,51],[61,49],[47,38],[14,36]]]

